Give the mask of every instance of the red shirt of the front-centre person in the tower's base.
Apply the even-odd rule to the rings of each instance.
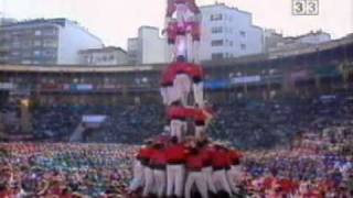
[[[188,157],[188,148],[183,144],[171,145],[165,150],[168,164],[184,164]]]

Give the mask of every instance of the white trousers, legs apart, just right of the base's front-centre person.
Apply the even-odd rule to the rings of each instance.
[[[196,184],[197,190],[202,198],[207,198],[207,183],[204,179],[202,172],[189,172],[185,183],[185,198],[191,198],[191,189],[194,184]]]

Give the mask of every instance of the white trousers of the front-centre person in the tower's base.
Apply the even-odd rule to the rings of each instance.
[[[185,168],[183,165],[167,165],[167,196],[183,196]]]

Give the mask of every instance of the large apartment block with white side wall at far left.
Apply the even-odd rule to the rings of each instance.
[[[103,47],[103,42],[66,19],[39,19],[1,25],[0,41],[8,64],[75,65],[78,52]]]

